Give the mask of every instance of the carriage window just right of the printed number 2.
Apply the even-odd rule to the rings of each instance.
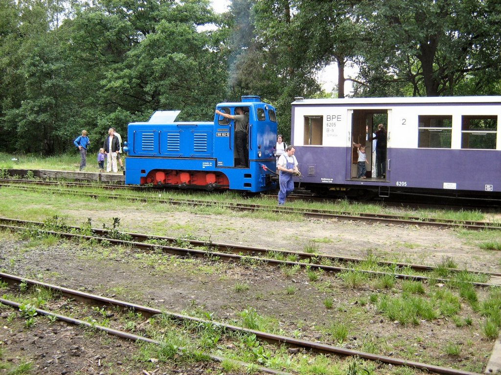
[[[450,148],[452,116],[419,116],[419,148]]]

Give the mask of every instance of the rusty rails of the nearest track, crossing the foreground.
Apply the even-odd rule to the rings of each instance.
[[[317,353],[329,353],[329,354],[334,354],[338,356],[356,356],[359,358],[363,358],[366,360],[370,361],[377,361],[380,363],[385,363],[385,364],[391,364],[391,365],[399,365],[399,366],[406,366],[406,367],[411,367],[411,368],[416,368],[420,370],[426,370],[427,372],[431,373],[439,373],[439,374],[449,374],[449,375],[477,375],[476,372],[470,372],[470,371],[465,371],[461,369],[455,369],[451,367],[443,367],[443,366],[437,366],[433,364],[427,364],[427,363],[422,363],[422,362],[417,362],[417,361],[412,361],[412,360],[407,360],[407,359],[401,359],[401,358],[396,358],[392,356],[387,356],[387,355],[379,355],[379,354],[373,354],[369,352],[363,352],[359,350],[352,350],[352,349],[347,349],[344,347],[340,346],[335,346],[335,345],[330,345],[330,344],[324,344],[318,341],[309,341],[309,340],[304,340],[300,338],[295,338],[295,337],[289,337],[281,334],[274,334],[274,333],[269,333],[269,332],[264,332],[264,331],[259,331],[259,330],[254,330],[254,329],[248,329],[243,326],[237,326],[237,325],[231,325],[231,324],[226,324],[224,322],[218,322],[214,320],[205,320],[205,319],[200,319],[197,317],[192,317],[188,315],[182,315],[182,314],[177,314],[173,312],[168,312],[148,306],[143,306],[139,305],[136,303],[130,303],[126,301],[121,301],[113,298],[108,298],[96,294],[91,294],[91,293],[86,293],[80,290],[73,290],[53,284],[47,284],[44,282],[36,281],[36,280],[31,280],[31,279],[26,279],[20,276],[15,276],[7,273],[2,273],[0,272],[0,279],[4,280],[5,282],[8,282],[11,285],[20,285],[21,283],[29,284],[32,287],[37,287],[37,288],[47,288],[51,289],[53,291],[57,291],[61,293],[62,295],[65,295],[69,298],[73,298],[78,301],[82,301],[85,303],[90,303],[94,305],[101,306],[103,304],[107,306],[112,306],[112,307],[119,307],[119,308],[125,308],[132,310],[134,312],[140,312],[143,316],[146,317],[154,317],[156,315],[166,315],[169,318],[179,321],[179,322],[195,322],[195,323],[200,323],[200,324],[208,324],[208,325],[213,325],[219,328],[223,328],[224,331],[234,331],[234,332],[240,332],[248,335],[256,335],[259,339],[270,342],[270,343],[275,343],[275,344],[285,344],[289,347],[300,347],[300,348],[305,348]],[[19,308],[20,304],[5,298],[0,298],[0,303],[3,303],[5,305]],[[91,323],[86,322],[84,320],[79,320],[75,318],[71,318],[68,316],[64,316],[61,314],[57,314],[54,312],[38,309],[37,312],[41,315],[51,315],[54,316],[57,319],[72,323],[72,324],[80,324],[80,325],[85,325],[85,326],[93,326],[97,327],[98,329],[101,329],[103,331],[106,331],[107,333],[110,334],[115,334],[124,338],[132,339],[132,340],[141,340],[149,343],[155,343],[155,344],[160,344],[157,340],[153,340],[148,337],[144,336],[139,336],[136,334],[131,334],[129,332],[124,332],[124,331],[119,331],[116,329],[108,328],[108,327],[102,327],[102,326],[97,326],[95,324],[91,325]],[[222,361],[224,358],[220,356],[215,356],[215,355],[210,355],[212,360],[216,361]],[[247,363],[242,363],[240,364],[247,365]],[[284,374],[282,371],[277,371],[277,370],[272,370],[267,367],[260,367],[260,370],[267,372],[267,373],[273,373],[273,374]]]

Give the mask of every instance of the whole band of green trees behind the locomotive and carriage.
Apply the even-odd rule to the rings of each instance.
[[[213,118],[256,94],[290,129],[317,72],[356,62],[357,96],[499,95],[498,0],[0,0],[0,151],[60,153],[155,110]],[[207,26],[212,25],[212,28]],[[125,138],[125,137],[124,137]]]

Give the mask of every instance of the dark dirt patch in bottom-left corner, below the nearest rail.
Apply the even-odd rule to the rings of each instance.
[[[66,374],[177,374],[191,375],[200,369],[217,368],[212,363],[181,366],[166,364],[156,358],[137,363],[137,344],[118,337],[94,333],[82,327],[65,322],[50,323],[40,318],[31,328],[24,326],[24,319],[8,321],[12,310],[0,306],[0,340],[6,350],[0,355],[10,366],[32,362],[32,370],[27,373],[44,375]],[[147,372],[144,372],[147,371]]]

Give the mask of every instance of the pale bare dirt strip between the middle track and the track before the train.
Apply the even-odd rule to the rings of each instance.
[[[67,211],[72,217],[95,217],[93,212]],[[501,252],[482,250],[452,229],[414,225],[370,224],[359,221],[303,219],[287,215],[265,220],[239,215],[200,215],[193,212],[145,212],[107,210],[94,220],[109,223],[121,218],[121,229],[169,237],[192,236],[213,242],[237,243],[267,249],[304,251],[309,241],[322,254],[364,258],[368,251],[386,260],[435,265],[452,258],[459,268],[501,272]],[[81,220],[83,222],[84,220]],[[96,225],[94,225],[96,226]]]

